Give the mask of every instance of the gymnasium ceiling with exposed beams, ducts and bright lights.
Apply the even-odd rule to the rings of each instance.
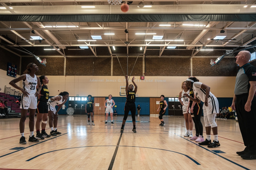
[[[33,53],[31,47],[34,47],[34,50],[42,51],[42,56],[74,57],[78,56],[78,53],[79,56],[95,57],[127,53],[150,55],[148,51],[156,50],[157,54],[154,53],[152,56],[163,57],[162,54],[168,54],[166,51],[169,50],[170,55],[176,51],[177,56],[194,57],[204,56],[206,53],[208,56],[213,56],[216,55],[214,51],[221,56],[228,52],[226,50],[238,47],[241,49],[256,44],[256,1],[134,0],[130,3],[129,11],[124,13],[120,9],[121,4],[109,5],[107,0],[1,0],[0,39],[1,43],[6,44],[1,44],[1,47],[20,56],[27,54],[16,52],[7,46],[19,49],[21,48],[18,46],[21,46],[31,53]],[[82,8],[82,6],[94,6],[94,8]],[[236,14],[244,16],[236,16]],[[90,17],[84,20],[79,17],[72,20],[70,17],[78,15]],[[117,22],[112,21],[112,15],[117,18]],[[254,17],[250,18],[251,15]],[[15,16],[20,21],[8,19],[8,16],[10,18]],[[20,19],[24,16],[27,18]],[[48,19],[35,20],[33,16],[44,16]],[[57,16],[57,19],[52,16]],[[97,20],[97,16],[109,22]],[[147,16],[151,17],[148,19],[150,21],[147,21]],[[204,16],[208,18],[205,19]],[[214,16],[219,17],[209,19]],[[227,16],[235,19],[226,19]],[[166,20],[166,17],[169,18]],[[70,22],[70,19],[73,22]],[[94,19],[97,22],[93,22]],[[159,26],[163,24],[168,26]],[[225,33],[220,33],[221,31]],[[106,35],[109,33],[114,35]],[[150,33],[163,38],[155,41]],[[216,40],[215,37],[221,34],[226,35],[224,40]],[[102,39],[91,41],[93,40],[91,35],[101,36]],[[30,36],[40,36],[44,40],[30,40]],[[81,49],[79,46],[87,46],[88,49]],[[121,48],[121,52],[120,50],[116,52],[113,46],[115,49]],[[175,49],[167,49],[167,47],[175,47]],[[55,49],[56,52],[53,54],[42,49]],[[201,51],[201,49],[214,51]],[[72,50],[72,54],[67,50]],[[81,50],[84,51],[82,55]],[[88,50],[90,53],[86,52]],[[106,54],[97,50],[105,50]],[[98,55],[99,53],[101,56]]]

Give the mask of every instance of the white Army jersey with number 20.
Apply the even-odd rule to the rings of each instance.
[[[34,95],[36,93],[36,85],[37,85],[37,78],[31,77],[29,74],[26,74],[26,80],[23,81],[23,89],[27,91],[30,95]]]

